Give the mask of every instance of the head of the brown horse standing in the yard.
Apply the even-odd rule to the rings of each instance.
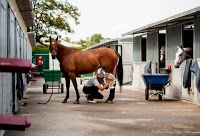
[[[58,52],[58,37],[54,40],[50,36],[49,40],[50,40],[49,50],[50,50],[52,59],[55,59]]]

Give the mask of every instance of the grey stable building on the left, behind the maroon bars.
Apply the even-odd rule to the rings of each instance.
[[[35,34],[27,27],[34,26],[33,8],[31,0],[0,3],[0,115],[12,115],[20,109],[19,94],[26,93],[26,73],[32,64]]]

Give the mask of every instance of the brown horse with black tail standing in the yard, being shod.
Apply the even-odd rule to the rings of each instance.
[[[121,89],[123,80],[122,58],[113,49],[97,48],[80,51],[59,44],[58,37],[55,40],[50,37],[49,49],[52,58],[57,58],[60,62],[60,69],[65,76],[67,93],[63,103],[67,103],[67,99],[69,98],[70,79],[76,91],[75,104],[79,104],[80,95],[77,88],[76,76],[78,74],[94,72],[100,67],[102,67],[105,72],[112,73],[114,68],[117,66],[117,77]]]

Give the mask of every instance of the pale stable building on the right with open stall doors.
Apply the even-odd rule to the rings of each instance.
[[[152,72],[171,66],[171,84],[166,88],[166,96],[175,99],[200,102],[199,91],[195,85],[196,76],[191,75],[191,87],[183,87],[185,61],[180,68],[174,67],[177,46],[193,49],[192,58],[200,62],[200,7],[176,14],[158,22],[126,32],[122,36],[133,36],[133,88],[145,90],[141,75],[147,61],[152,61]],[[165,59],[160,62],[160,49],[165,46]]]

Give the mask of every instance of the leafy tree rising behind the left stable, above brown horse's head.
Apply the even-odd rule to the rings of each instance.
[[[36,42],[50,35],[59,35],[61,31],[73,33],[70,22],[79,24],[78,8],[60,0],[33,0]],[[59,35],[60,36],[60,35]]]

